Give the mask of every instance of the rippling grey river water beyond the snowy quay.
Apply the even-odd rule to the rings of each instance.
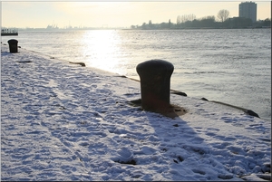
[[[271,120],[271,29],[21,31],[22,48],[139,80],[136,66],[171,62],[171,89]]]

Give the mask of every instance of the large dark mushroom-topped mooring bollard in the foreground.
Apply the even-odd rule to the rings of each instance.
[[[137,65],[141,79],[143,110],[163,111],[170,107],[170,76],[174,66],[163,60],[150,60]]]

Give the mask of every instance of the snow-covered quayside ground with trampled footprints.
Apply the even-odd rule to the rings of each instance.
[[[175,94],[188,113],[170,119],[129,104],[137,81],[1,50],[2,180],[270,178],[270,121]]]

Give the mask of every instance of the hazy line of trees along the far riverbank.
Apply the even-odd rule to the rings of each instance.
[[[143,23],[141,25],[131,25],[131,29],[141,30],[154,30],[154,29],[191,29],[191,28],[261,28],[271,27],[271,19],[258,20],[253,23],[250,18],[244,17],[232,17],[229,18],[229,12],[226,9],[222,9],[217,14],[217,18],[214,15],[205,16],[197,19],[195,14],[183,14],[178,15],[177,23],[149,24]]]

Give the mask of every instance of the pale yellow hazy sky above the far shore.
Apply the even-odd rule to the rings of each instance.
[[[4,27],[45,28],[48,24],[88,27],[130,27],[148,23],[177,23],[177,16],[195,14],[197,18],[217,14],[227,9],[230,17],[238,16],[238,5],[245,1],[19,1],[1,3],[1,24]],[[257,19],[271,18],[270,1],[257,4]]]

